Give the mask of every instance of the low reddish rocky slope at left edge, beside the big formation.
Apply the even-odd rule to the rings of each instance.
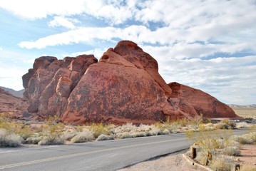
[[[11,118],[23,118],[28,103],[0,88],[0,113],[10,113]]]

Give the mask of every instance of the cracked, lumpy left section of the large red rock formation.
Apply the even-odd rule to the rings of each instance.
[[[66,111],[71,91],[88,66],[97,61],[93,55],[66,57],[63,60],[51,56],[37,58],[33,69],[22,77],[24,98],[29,100],[29,113],[36,113],[41,118],[51,115],[61,117]]]

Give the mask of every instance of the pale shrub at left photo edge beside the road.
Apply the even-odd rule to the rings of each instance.
[[[16,134],[8,134],[5,129],[0,129],[0,147],[19,147],[22,138]]]

